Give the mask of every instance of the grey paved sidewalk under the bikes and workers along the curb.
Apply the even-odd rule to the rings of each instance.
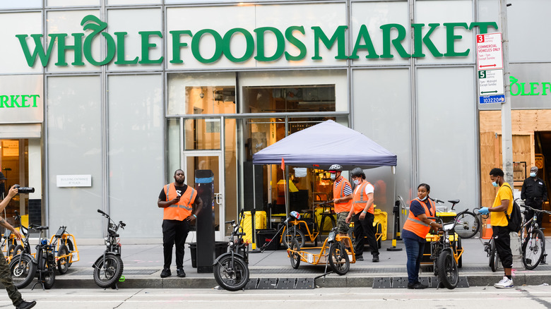
[[[463,239],[463,267],[459,269],[460,277],[467,277],[470,286],[492,286],[502,279],[503,270],[492,272],[488,266],[488,258],[480,238]],[[124,240],[123,240],[124,243]],[[309,243],[307,243],[308,245]],[[551,248],[551,241],[546,240],[546,247]],[[405,277],[405,249],[401,251],[387,251],[391,241],[384,241],[380,252],[380,262],[371,262],[369,251],[364,253],[365,260],[350,265],[350,271],[344,276],[328,274],[325,278],[316,279],[316,286],[327,287],[372,287],[374,279],[378,277]],[[403,243],[398,241],[398,248]],[[78,246],[80,258],[69,268],[69,272],[56,276],[54,288],[95,288],[93,280],[93,262],[102,255],[105,246]],[[314,253],[315,250],[312,250]],[[550,257],[551,258],[551,257]],[[176,277],[176,266],[172,259],[172,277],[160,278],[162,269],[162,244],[158,245],[126,245],[122,246],[122,260],[124,261],[124,281],[119,282],[119,289],[123,288],[214,288],[218,284],[213,274],[198,274],[196,268],[191,267],[189,248],[186,245],[184,255],[184,270],[186,278]],[[515,261],[515,267],[521,267],[520,260]],[[500,265],[501,266],[501,265]],[[328,267],[330,268],[330,267]],[[422,265],[421,277],[432,277],[432,265]],[[314,278],[324,274],[325,265],[309,265],[301,262],[298,269],[293,269],[287,252],[280,250],[251,253],[249,255],[249,269],[251,278]],[[551,284],[551,265],[538,265],[534,270],[522,267],[514,269],[514,284],[516,286]],[[32,286],[32,284],[30,285]],[[38,288],[38,286],[37,286]],[[28,288],[27,288],[28,289]]]

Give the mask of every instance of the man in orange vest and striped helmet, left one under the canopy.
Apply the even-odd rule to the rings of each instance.
[[[337,229],[340,236],[348,236],[348,223],[346,217],[352,209],[352,186],[350,182],[340,174],[343,166],[333,164],[328,169],[331,173],[331,180],[335,181],[333,186],[333,203],[337,214]]]

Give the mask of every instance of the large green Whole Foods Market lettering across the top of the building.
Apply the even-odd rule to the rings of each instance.
[[[152,37],[162,38],[160,31],[140,31],[138,35],[141,38],[141,50],[126,51],[125,38],[128,32],[114,32],[113,35],[104,32],[107,28],[107,23],[93,15],[88,15],[81,21],[83,30],[82,33],[71,33],[74,39],[74,44],[66,44],[66,38],[69,34],[57,33],[49,34],[49,43],[47,46],[42,44],[42,34],[33,35],[16,35],[19,40],[25,60],[28,66],[35,66],[37,61],[40,61],[42,66],[47,66],[49,61],[56,61],[55,66],[68,66],[65,61],[66,52],[71,51],[74,54],[72,66],[84,66],[85,61],[94,65],[102,66],[114,61],[116,65],[132,65],[132,64],[149,64],[162,63],[164,56],[157,59],[151,59],[150,52],[157,47],[157,44],[150,42]],[[366,25],[360,25],[357,36],[353,39],[353,49],[350,54],[346,53],[346,43],[348,36],[346,32],[348,26],[339,25],[333,32],[322,30],[321,27],[312,26],[307,29],[301,25],[292,25],[286,29],[278,29],[273,27],[256,28],[252,32],[244,28],[232,28],[227,32],[218,32],[213,29],[203,29],[195,33],[191,30],[172,30],[169,31],[168,40],[172,42],[172,50],[170,54],[170,63],[184,63],[182,59],[182,49],[191,49],[191,54],[201,63],[215,63],[222,57],[234,63],[240,63],[254,58],[256,61],[268,62],[285,58],[287,61],[300,61],[307,57],[307,54],[314,60],[321,60],[321,49],[331,50],[335,54],[335,59],[360,59],[358,54],[365,54],[365,59],[378,58],[393,58],[393,50],[397,56],[402,58],[421,58],[425,57],[423,49],[427,49],[432,56],[435,57],[461,57],[468,56],[470,49],[456,50],[456,42],[461,40],[462,36],[456,34],[457,28],[465,30],[473,30],[479,28],[480,33],[487,33],[489,28],[497,30],[495,22],[477,22],[477,23],[413,23],[410,26],[413,28],[413,54],[408,54],[403,47],[405,37],[412,32],[406,29],[405,26],[390,23],[379,27],[383,42],[383,49],[376,50],[372,42],[369,31]],[[446,50],[439,50],[431,40],[431,35],[437,28],[443,27],[446,30]],[[91,32],[89,32],[90,30]],[[275,52],[267,54],[265,49],[266,36],[275,37],[276,48]],[[244,52],[235,54],[230,50],[230,43],[235,40],[235,37],[240,36],[244,39]],[[199,49],[199,44],[202,40],[213,40],[215,42],[213,51],[208,55],[202,54]],[[95,40],[104,40],[107,46],[107,53],[102,59],[97,59],[92,53],[92,42]],[[314,50],[307,50],[306,40],[313,40]],[[57,55],[52,53],[54,45],[57,44]],[[295,47],[293,50],[297,52],[290,53],[288,48],[290,45]],[[393,49],[391,48],[393,47]],[[125,56],[130,54],[132,56]],[[133,57],[134,56],[134,57]],[[363,57],[362,57],[363,58]]]

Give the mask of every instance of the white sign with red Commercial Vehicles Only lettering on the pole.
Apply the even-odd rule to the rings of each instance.
[[[478,70],[503,68],[502,34],[487,33],[476,36]]]

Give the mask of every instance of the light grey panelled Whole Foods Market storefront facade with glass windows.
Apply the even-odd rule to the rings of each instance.
[[[509,2],[514,161],[530,166],[551,155],[545,121],[524,126],[551,110],[551,56],[526,33],[549,28],[551,4]],[[460,209],[494,194],[500,106],[478,104],[475,35],[501,29],[497,0],[1,1],[0,28],[0,168],[36,188],[10,206],[33,223],[100,239],[101,209],[130,238],[158,239],[162,186],[211,169],[221,240],[241,209],[285,212],[285,186],[297,210],[331,198],[314,166],[252,164],[329,119],[397,155],[394,170],[366,170],[389,222],[419,183]]]

